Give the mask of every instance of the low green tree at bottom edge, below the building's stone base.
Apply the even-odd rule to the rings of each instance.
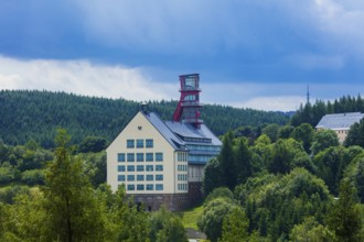
[[[151,217],[150,241],[188,241],[181,218],[168,211],[165,207],[162,206],[161,209]]]

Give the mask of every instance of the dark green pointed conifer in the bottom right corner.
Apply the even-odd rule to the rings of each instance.
[[[349,179],[340,184],[339,199],[334,202],[328,218],[328,224],[335,232],[338,241],[361,241],[362,221],[355,207],[355,187]]]

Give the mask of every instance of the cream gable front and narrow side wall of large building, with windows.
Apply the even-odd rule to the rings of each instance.
[[[146,113],[138,112],[106,152],[114,191],[124,185],[135,195],[188,193],[188,151],[175,148]]]

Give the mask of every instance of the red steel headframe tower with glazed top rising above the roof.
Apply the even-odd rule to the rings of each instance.
[[[201,127],[200,119],[200,76],[199,74],[189,74],[180,76],[181,98],[173,114],[173,121],[191,123],[196,128]]]

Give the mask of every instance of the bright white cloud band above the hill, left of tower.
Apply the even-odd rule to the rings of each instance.
[[[142,101],[168,99],[176,87],[148,78],[140,68],[93,65],[87,61],[0,57],[0,89],[62,90]]]

